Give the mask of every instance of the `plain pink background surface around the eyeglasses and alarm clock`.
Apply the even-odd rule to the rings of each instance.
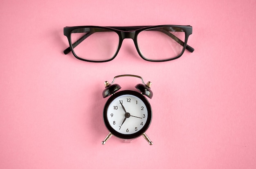
[[[255,11],[254,0],[2,0],[0,168],[256,168]],[[195,51],[147,62],[126,39],[111,62],[62,53],[65,26],[158,24],[193,26]],[[101,145],[103,82],[127,73],[153,82],[153,146]]]

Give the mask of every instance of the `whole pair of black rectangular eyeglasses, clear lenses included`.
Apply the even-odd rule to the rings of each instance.
[[[134,27],[64,27],[70,47],[80,60],[88,62],[108,62],[113,60],[125,38],[131,38],[139,56],[151,62],[164,62],[180,58],[185,49],[193,52],[187,45],[191,26],[159,25]]]

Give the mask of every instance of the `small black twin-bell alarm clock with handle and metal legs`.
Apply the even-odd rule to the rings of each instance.
[[[118,91],[121,86],[113,83],[116,78],[125,76],[141,79],[142,84],[135,86],[138,92],[132,90]],[[102,96],[103,98],[110,96],[110,98],[103,109],[103,120],[110,133],[101,144],[104,145],[114,135],[125,141],[143,136],[149,145],[153,145],[145,133],[152,120],[152,109],[146,99],[146,97],[150,99],[153,97],[153,92],[150,89],[152,83],[147,82],[145,84],[143,78],[137,75],[119,75],[115,76],[111,83],[106,81],[104,84],[105,89]]]

